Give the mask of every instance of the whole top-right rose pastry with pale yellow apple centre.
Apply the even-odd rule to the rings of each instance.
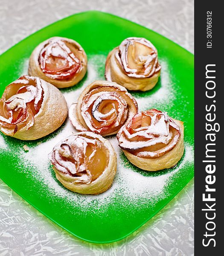
[[[151,90],[160,76],[157,49],[145,38],[126,38],[107,57],[105,77],[128,90]]]

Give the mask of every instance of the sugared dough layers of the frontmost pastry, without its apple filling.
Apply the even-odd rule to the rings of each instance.
[[[86,151],[81,148],[84,144],[80,143],[81,137],[85,137],[90,140],[97,140],[98,146],[99,143],[101,143],[100,146],[102,146],[103,154],[105,154],[104,157],[106,157],[105,160],[107,161],[107,165],[105,166],[105,169],[102,171],[101,175],[99,175],[99,177],[97,177],[95,180],[91,180],[91,170],[88,170],[87,168],[85,169],[83,167],[85,166],[84,163],[86,162],[82,162],[82,160],[79,159],[79,154],[77,156],[77,151],[79,150],[81,150],[81,154],[84,154],[82,157],[86,156]],[[59,156],[59,158],[57,158],[57,161],[55,161],[55,156],[57,157],[58,155],[58,152],[56,151],[60,151],[61,145],[64,145],[63,143],[68,143],[70,144],[71,148],[74,148],[74,145],[72,147],[72,143],[69,142],[71,142],[71,140],[73,139],[77,140],[77,138],[79,139],[78,143],[76,143],[76,145],[78,145],[78,148],[76,148],[77,150],[73,149],[73,154],[76,155],[76,159],[72,160],[73,163],[75,163],[75,170],[73,166],[70,166],[70,169],[69,167],[65,169],[64,167],[60,166],[60,160],[58,160],[61,156]],[[55,152],[57,155],[55,155]],[[70,156],[70,151],[67,150],[66,154],[61,152],[59,154],[63,154],[64,156],[66,155],[68,157]],[[67,137],[67,139],[62,140],[60,143],[58,143],[56,145],[56,148],[54,147],[53,151],[49,154],[49,159],[53,164],[53,169],[55,171],[56,177],[62,183],[62,185],[65,186],[67,189],[70,189],[71,191],[80,194],[96,195],[105,192],[111,187],[111,184],[113,183],[113,178],[116,174],[117,157],[111,143],[108,140],[105,140],[101,135],[94,134],[93,132],[86,131],[70,135],[69,137]],[[57,164],[57,166],[55,165],[55,163]],[[99,163],[99,165],[100,164],[101,163]],[[65,165],[63,164],[63,166]],[[80,169],[80,172],[77,170],[78,168]],[[76,172],[79,175],[75,176]]]

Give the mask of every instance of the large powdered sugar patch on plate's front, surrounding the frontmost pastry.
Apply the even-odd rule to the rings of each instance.
[[[38,180],[47,186],[49,197],[58,200],[67,201],[73,207],[85,208],[85,211],[100,211],[107,209],[108,205],[113,204],[114,198],[122,198],[122,204],[143,204],[165,198],[167,196],[166,186],[170,179],[180,171],[180,169],[193,163],[193,149],[189,144],[185,144],[185,154],[179,166],[163,175],[144,176],[141,172],[133,171],[129,162],[125,162],[123,153],[118,146],[116,137],[109,137],[109,141],[113,145],[118,157],[118,169],[113,184],[107,192],[100,195],[79,195],[70,192],[58,183],[55,175],[49,170],[49,160],[47,154],[52,150],[53,146],[63,139],[64,136],[74,132],[74,128],[67,121],[63,130],[54,138],[47,142],[38,144],[34,148],[30,148],[28,152],[20,149],[18,156],[26,166],[35,166],[32,172],[32,178]],[[40,161],[41,160],[41,161]],[[144,172],[144,171],[143,171]],[[152,200],[153,198],[153,200]],[[90,207],[91,206],[91,207]]]

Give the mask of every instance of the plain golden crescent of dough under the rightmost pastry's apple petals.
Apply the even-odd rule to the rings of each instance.
[[[175,164],[177,164],[180,158],[183,156],[183,152],[184,152],[184,143],[183,143],[184,126],[183,126],[183,122],[175,119],[173,120],[180,127],[180,138],[177,144],[175,145],[175,147],[171,151],[167,152],[161,157],[144,158],[144,157],[137,157],[134,154],[131,154],[129,151],[123,150],[128,160],[131,163],[133,163],[135,166],[145,171],[158,171],[158,170],[168,169],[175,166]]]

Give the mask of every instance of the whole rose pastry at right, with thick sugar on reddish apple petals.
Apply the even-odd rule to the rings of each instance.
[[[171,168],[183,155],[183,122],[150,109],[137,113],[117,134],[128,160],[146,171]]]

